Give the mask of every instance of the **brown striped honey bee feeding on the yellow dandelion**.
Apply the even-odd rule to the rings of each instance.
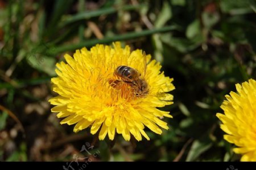
[[[144,76],[146,74],[146,53],[143,52],[144,56]],[[136,96],[146,96],[149,92],[148,84],[145,78],[142,77],[141,73],[134,68],[126,65],[119,65],[114,74],[121,78],[121,80],[131,86]]]

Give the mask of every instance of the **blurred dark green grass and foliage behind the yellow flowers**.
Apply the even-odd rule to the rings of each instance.
[[[255,0],[0,0],[0,161],[238,161],[216,113],[235,84],[255,78]],[[47,100],[64,53],[121,41],[174,77],[170,130],[150,141],[98,142],[60,126]]]

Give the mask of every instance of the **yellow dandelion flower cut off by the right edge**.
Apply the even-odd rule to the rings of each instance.
[[[224,139],[234,143],[236,154],[242,154],[241,161],[256,161],[256,81],[250,79],[242,86],[236,84],[238,93],[230,92],[227,101],[221,105],[224,114],[217,113],[223,123],[221,129],[228,135]]]

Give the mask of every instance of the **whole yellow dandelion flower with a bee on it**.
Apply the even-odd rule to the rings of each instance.
[[[131,134],[138,141],[142,136],[150,140],[145,127],[156,134],[162,134],[160,127],[168,129],[161,118],[172,116],[156,107],[173,103],[173,96],[167,93],[175,89],[173,78],[164,76],[161,65],[150,61],[150,55],[139,49],[131,52],[129,46],[122,48],[116,42],[113,47],[97,44],[90,51],[82,48],[73,57],[64,57],[67,64],[57,63],[58,77],[51,80],[53,91],[59,96],[49,99],[56,105],[51,111],[58,113],[58,118],[65,117],[61,124],[76,124],[75,132],[88,127],[91,134],[100,131],[100,140],[107,134],[113,140],[115,132],[125,140],[130,140]],[[146,69],[143,61],[147,62]],[[135,79],[128,81],[118,76],[117,68],[121,65],[141,73],[136,82],[146,81],[148,90],[144,95],[139,93],[142,86]]]

